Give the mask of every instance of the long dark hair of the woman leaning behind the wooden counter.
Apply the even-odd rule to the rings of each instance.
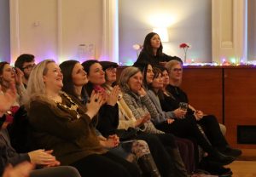
[[[153,48],[151,46],[151,38],[154,37],[154,35],[156,35],[156,34],[157,33],[155,33],[155,32],[148,33],[147,36],[145,37],[144,43],[143,43],[143,51],[150,54],[151,56],[154,56]],[[163,54],[163,45],[162,45],[162,43],[160,43],[160,48],[157,49],[156,55],[160,56],[162,54]]]

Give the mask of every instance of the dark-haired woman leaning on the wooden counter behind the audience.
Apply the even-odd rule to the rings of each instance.
[[[144,39],[143,50],[139,54],[134,65],[149,63],[152,66],[165,65],[169,60],[179,60],[177,56],[170,56],[163,53],[163,45],[160,37],[155,32],[150,32]]]

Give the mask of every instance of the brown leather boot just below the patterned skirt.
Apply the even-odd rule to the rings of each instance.
[[[143,171],[143,176],[160,177],[160,173],[151,154],[143,155],[138,159],[137,163]]]

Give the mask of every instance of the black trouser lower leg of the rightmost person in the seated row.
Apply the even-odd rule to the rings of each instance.
[[[228,146],[228,142],[219,128],[216,117],[213,115],[207,115],[202,117],[197,123],[199,123],[204,129],[204,132],[207,134],[207,138],[210,140],[212,146],[218,148]]]

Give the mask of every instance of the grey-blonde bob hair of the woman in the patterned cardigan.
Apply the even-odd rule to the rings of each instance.
[[[123,92],[130,90],[128,85],[129,79],[136,75],[138,72],[141,72],[140,69],[134,66],[126,67],[119,77],[119,87]]]

